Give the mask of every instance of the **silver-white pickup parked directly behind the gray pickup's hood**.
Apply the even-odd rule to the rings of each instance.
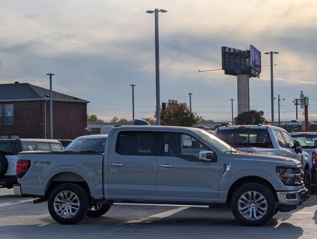
[[[242,152],[298,159],[303,164],[305,186],[310,195],[312,161],[309,154],[303,152],[300,142],[294,141],[285,129],[270,125],[224,126],[215,130],[215,136]]]

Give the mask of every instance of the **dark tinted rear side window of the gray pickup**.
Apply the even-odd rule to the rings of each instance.
[[[155,135],[151,131],[119,132],[115,152],[121,155],[156,156]]]

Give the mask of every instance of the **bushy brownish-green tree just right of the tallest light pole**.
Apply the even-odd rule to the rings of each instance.
[[[173,104],[172,107],[161,109],[161,124],[173,126],[188,126],[196,125],[202,119],[197,113],[190,112],[189,106],[186,103]]]

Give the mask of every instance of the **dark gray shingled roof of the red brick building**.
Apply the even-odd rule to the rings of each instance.
[[[0,84],[0,102],[49,100],[48,89],[29,83]],[[53,91],[54,101],[89,103],[89,101]]]

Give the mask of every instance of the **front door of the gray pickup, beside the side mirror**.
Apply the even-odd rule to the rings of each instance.
[[[158,141],[157,200],[217,202],[219,158],[199,160],[200,151],[212,149],[181,132],[160,132]]]

